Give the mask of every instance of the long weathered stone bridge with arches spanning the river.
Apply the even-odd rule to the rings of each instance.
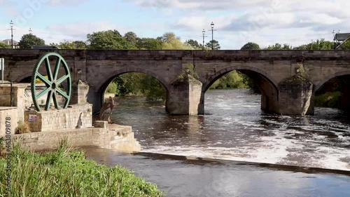
[[[154,76],[167,89],[167,111],[191,115],[204,114],[205,92],[232,70],[254,79],[262,92],[261,109],[277,114],[314,114],[316,90],[333,78],[344,79],[344,83],[350,79],[350,50],[0,49],[0,57],[6,61],[5,80],[28,82],[34,64],[46,52],[61,54],[73,81],[89,84],[87,101],[95,112],[109,83],[127,72]],[[193,64],[197,79],[183,74],[189,64]],[[297,77],[300,75],[306,80]],[[339,107],[350,109],[349,98],[349,90],[343,88]]]

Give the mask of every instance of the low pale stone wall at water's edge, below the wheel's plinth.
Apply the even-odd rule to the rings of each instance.
[[[60,140],[67,139],[71,147],[99,147],[123,151],[140,151],[131,126],[108,125],[102,128],[48,131],[15,135],[13,140],[31,150],[55,149]]]

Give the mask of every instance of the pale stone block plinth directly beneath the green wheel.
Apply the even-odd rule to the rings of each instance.
[[[32,115],[36,115],[36,121],[29,121]],[[28,110],[25,121],[31,132],[88,128],[92,126],[92,104],[73,104],[66,109],[50,111]]]

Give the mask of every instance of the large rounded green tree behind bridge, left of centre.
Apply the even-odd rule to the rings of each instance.
[[[117,30],[108,30],[87,34],[89,48],[92,49],[134,49],[130,43],[119,34]]]

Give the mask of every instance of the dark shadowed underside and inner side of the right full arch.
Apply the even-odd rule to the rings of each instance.
[[[207,81],[203,84],[201,102],[204,103],[204,94],[210,88],[210,86],[218,79],[220,79],[225,74],[237,70],[242,74],[246,74],[251,79],[258,83],[261,91],[261,109],[270,113],[278,113],[279,106],[279,89],[278,83],[271,77],[267,72],[257,69],[255,67],[247,66],[232,66],[225,69],[221,69],[214,75],[209,77]]]

